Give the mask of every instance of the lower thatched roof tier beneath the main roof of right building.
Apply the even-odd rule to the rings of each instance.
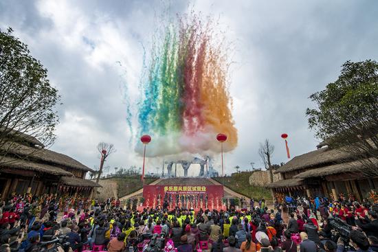
[[[378,168],[378,161],[377,159],[370,159],[373,163],[377,165]],[[341,174],[341,173],[348,173],[353,176],[353,172],[361,174],[361,170],[364,169],[363,163],[360,161],[353,161],[348,163],[339,163],[336,165],[329,165],[322,168],[311,169],[305,172],[301,172],[300,174],[294,176],[295,179],[308,179],[317,176],[327,176],[333,174]]]

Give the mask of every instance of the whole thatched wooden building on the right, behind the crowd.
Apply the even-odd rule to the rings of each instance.
[[[294,157],[278,168],[282,180],[267,185],[277,198],[291,196],[332,196],[353,194],[358,200],[368,198],[378,189],[378,178],[366,177],[358,158],[326,142],[317,150]],[[378,163],[377,163],[378,168]]]

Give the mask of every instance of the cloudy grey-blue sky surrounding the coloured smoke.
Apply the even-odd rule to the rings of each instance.
[[[314,150],[319,141],[304,115],[313,106],[309,95],[335,80],[346,60],[378,60],[378,1],[0,0],[0,29],[13,28],[62,96],[52,150],[93,168],[96,145],[106,141],[117,150],[111,168],[141,165],[126,125],[125,87],[136,89],[143,45],[166,10],[214,16],[234,45],[230,93],[239,142],[225,154],[227,172],[262,166],[265,138],[276,147],[274,163],[286,162],[281,133],[289,134],[292,156]],[[148,169],[161,163],[148,159]]]

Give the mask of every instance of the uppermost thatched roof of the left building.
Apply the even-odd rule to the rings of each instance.
[[[15,142],[8,142],[6,144],[3,144],[3,146],[1,146],[1,149],[5,150],[8,153],[11,152],[12,154],[16,154],[21,157],[27,157],[27,159],[30,160],[34,159],[36,161],[43,161],[56,165],[63,165],[68,168],[93,172],[91,168],[88,168],[79,161],[76,161],[75,159],[68,157],[65,154],[54,152],[52,150],[43,148],[31,148],[29,146],[24,146]]]

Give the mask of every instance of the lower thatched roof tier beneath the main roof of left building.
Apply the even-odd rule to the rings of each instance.
[[[56,166],[46,165],[43,163],[33,163],[22,159],[14,159],[12,157],[1,157],[0,171],[6,168],[18,170],[32,170],[36,172],[44,172],[60,176],[72,176],[71,172],[67,172]]]

